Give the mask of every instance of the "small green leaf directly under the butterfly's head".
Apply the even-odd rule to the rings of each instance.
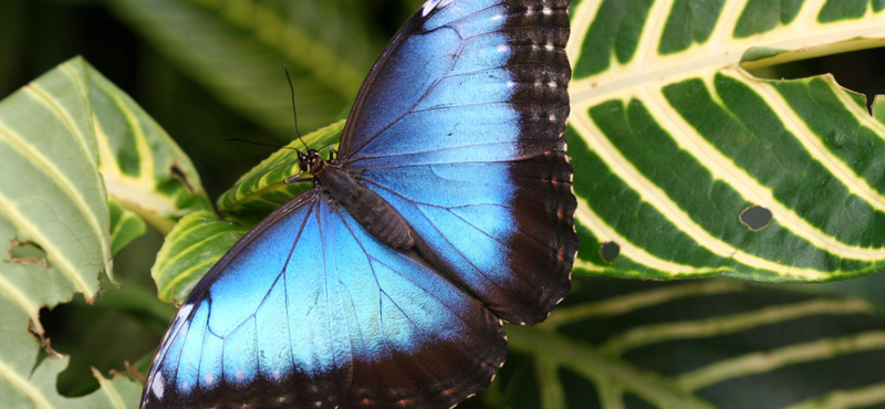
[[[344,120],[304,136],[304,144],[321,151],[334,149],[341,139],[342,130]],[[287,178],[299,171],[295,149],[303,150],[300,140],[291,141],[240,177],[233,187],[218,199],[218,209],[247,224],[254,224],[310,188],[311,182],[284,183]]]

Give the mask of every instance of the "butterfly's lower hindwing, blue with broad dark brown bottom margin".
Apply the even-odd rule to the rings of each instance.
[[[345,211],[323,206],[354,350],[344,407],[448,408],[503,364],[500,319],[439,272],[386,247]],[[342,228],[343,227],[343,228]]]

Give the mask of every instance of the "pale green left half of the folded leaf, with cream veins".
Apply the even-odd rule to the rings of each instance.
[[[91,300],[112,253],[87,70],[72,60],[0,102],[0,216]]]

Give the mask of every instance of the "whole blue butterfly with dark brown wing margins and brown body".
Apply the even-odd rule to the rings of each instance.
[[[569,0],[428,0],[314,187],[197,284],[142,408],[449,408],[543,321],[577,251]]]

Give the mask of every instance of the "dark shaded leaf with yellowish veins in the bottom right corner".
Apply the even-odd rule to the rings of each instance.
[[[885,314],[736,281],[576,277],[476,408],[879,408]]]

